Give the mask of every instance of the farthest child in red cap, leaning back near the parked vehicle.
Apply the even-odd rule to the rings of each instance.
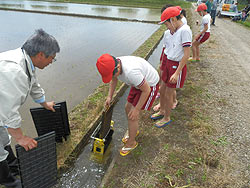
[[[210,20],[211,16],[207,13],[207,5],[205,3],[200,4],[196,11],[202,16],[200,32],[195,35],[192,43],[193,57],[189,61],[200,61],[200,49],[199,46],[205,42],[210,36]]]

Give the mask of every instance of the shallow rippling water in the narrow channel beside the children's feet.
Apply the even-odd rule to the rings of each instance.
[[[155,68],[159,65],[161,50],[162,42],[148,60]],[[124,106],[128,92],[129,89],[127,89],[114,107],[112,118],[115,121],[114,134],[104,157],[96,158],[95,155],[93,155],[91,152],[93,143],[90,141],[71,169],[59,179],[58,185],[55,186],[56,188],[96,188],[100,185],[110,162],[115,155],[119,155],[118,151],[122,146],[121,138],[127,131],[127,119],[125,117]]]

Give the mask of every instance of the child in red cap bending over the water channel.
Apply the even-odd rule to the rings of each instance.
[[[97,60],[96,67],[104,83],[110,83],[105,105],[109,106],[118,79],[131,86],[125,106],[128,118],[128,136],[122,139],[125,144],[120,150],[126,156],[138,143],[135,137],[139,129],[139,113],[150,110],[159,90],[159,75],[145,59],[135,56],[113,57],[103,54]]]

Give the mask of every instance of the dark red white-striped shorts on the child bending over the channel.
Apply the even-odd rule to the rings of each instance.
[[[159,84],[157,84],[156,86],[152,86],[150,88],[151,88],[151,92],[150,92],[145,104],[141,108],[142,110],[150,110],[150,108],[152,107],[153,102],[155,100],[155,97],[159,91]],[[127,101],[129,103],[131,103],[133,106],[136,106],[139,99],[140,99],[141,93],[142,93],[142,91],[140,89],[136,89],[135,87],[131,87],[129,94],[128,94]]]

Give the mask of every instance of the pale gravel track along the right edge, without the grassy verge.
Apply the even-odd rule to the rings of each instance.
[[[197,13],[193,17],[200,19]],[[213,124],[227,143],[221,154],[228,169],[218,176],[245,188],[250,187],[250,30],[227,18],[216,18],[215,24],[210,42],[201,48],[201,65],[211,76]]]

